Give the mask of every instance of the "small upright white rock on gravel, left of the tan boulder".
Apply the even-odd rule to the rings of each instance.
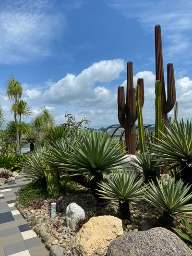
[[[77,222],[78,219],[84,219],[84,217],[85,212],[82,207],[78,206],[76,203],[68,205],[66,209],[66,223],[68,228],[75,230],[75,222]]]

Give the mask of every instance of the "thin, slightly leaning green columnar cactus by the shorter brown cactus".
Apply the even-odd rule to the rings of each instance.
[[[142,107],[141,107],[141,91],[140,91],[139,85],[136,85],[136,98],[137,98],[136,105],[137,105],[140,150],[141,150],[141,153],[144,153],[146,151],[146,147],[145,147],[144,123],[143,123]]]

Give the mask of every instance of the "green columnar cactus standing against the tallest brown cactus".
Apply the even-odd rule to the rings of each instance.
[[[156,81],[156,99],[155,99],[155,107],[156,107],[156,134],[155,137],[159,139],[160,128],[161,128],[161,83],[159,80]]]

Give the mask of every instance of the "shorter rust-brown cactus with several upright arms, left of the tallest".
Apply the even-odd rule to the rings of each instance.
[[[144,105],[144,80],[139,78],[137,84],[141,89],[141,106]],[[132,62],[127,62],[127,92],[125,102],[124,87],[118,87],[118,119],[120,125],[125,129],[126,151],[135,155],[136,151],[136,129],[137,120],[135,88],[133,88]]]

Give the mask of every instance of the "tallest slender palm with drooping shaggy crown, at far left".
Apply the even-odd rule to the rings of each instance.
[[[21,83],[19,81],[16,81],[13,76],[11,76],[6,82],[6,96],[8,99],[11,99],[14,101],[15,106],[17,105],[18,100],[21,98],[23,89],[21,86]],[[17,123],[17,112],[16,108],[14,110],[14,120],[15,120],[15,126],[16,126],[16,134],[17,134],[17,142],[16,142],[16,154],[20,155],[20,145],[19,145],[19,129],[18,129],[18,123]]]

